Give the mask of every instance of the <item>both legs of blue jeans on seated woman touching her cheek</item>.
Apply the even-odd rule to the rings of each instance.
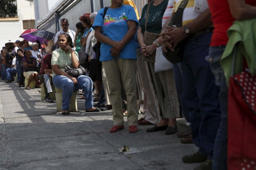
[[[62,89],[62,110],[69,110],[70,98],[75,89],[83,90],[85,98],[85,109],[90,109],[93,107],[91,78],[81,75],[78,76],[76,80],[77,84],[74,84],[74,82],[66,76],[56,75],[52,78],[54,86],[56,88]]]

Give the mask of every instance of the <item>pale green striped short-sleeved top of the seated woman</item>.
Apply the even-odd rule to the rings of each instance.
[[[77,60],[78,59],[78,54],[76,51],[74,51]],[[55,51],[52,52],[52,65],[59,65],[59,69],[62,71],[65,71],[64,66],[71,65],[72,60],[71,60],[71,53],[68,51],[67,53],[62,50],[61,48],[56,49]],[[55,76],[56,74],[52,72],[52,76]]]

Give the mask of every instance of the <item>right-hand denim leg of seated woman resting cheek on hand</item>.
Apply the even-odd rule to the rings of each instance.
[[[77,79],[77,84],[75,85],[76,89],[83,89],[84,98],[85,98],[85,108],[86,110],[93,107],[93,98],[92,98],[92,80],[88,76],[81,75]]]

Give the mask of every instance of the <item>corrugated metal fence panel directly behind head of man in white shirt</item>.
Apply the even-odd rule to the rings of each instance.
[[[85,13],[91,13],[90,0],[81,0],[77,2],[72,8],[60,13],[60,19],[68,19],[68,28],[73,31],[76,31],[76,23],[80,22],[80,16],[82,16]]]

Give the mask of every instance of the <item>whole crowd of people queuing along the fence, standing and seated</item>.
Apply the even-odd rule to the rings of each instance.
[[[178,131],[176,118],[184,116],[190,130],[177,136],[199,150],[182,160],[202,162],[194,170],[226,170],[229,77],[220,60],[228,44],[228,28],[235,20],[256,18],[256,0],[204,3],[209,8],[198,11],[194,0],[148,0],[140,18],[132,0],[112,0],[108,8],[82,15],[76,31],[68,29],[68,19],[63,18],[55,45],[52,40],[45,43],[51,52],[48,50],[44,57],[38,43],[30,49],[27,41],[16,41],[14,49],[1,51],[2,80],[11,82],[10,73],[17,70],[19,86],[24,86],[26,77],[26,89],[30,89],[30,82],[37,83],[39,75],[44,82],[45,102],[53,102],[49,96],[51,84],[63,90],[63,115],[69,114],[72,92],[82,89],[86,112],[100,111],[95,107],[113,110],[110,133],[124,129],[127,115],[130,133],[138,131],[138,124],[152,124],[154,127],[146,132],[164,130],[171,135]],[[180,25],[175,25],[177,18],[181,18]],[[181,42],[182,61],[156,72],[156,64],[148,60],[158,55],[156,49],[176,51]],[[256,61],[255,55],[252,61]],[[64,68],[69,64],[83,66],[87,72],[72,77]],[[29,67],[39,70],[26,71]],[[144,115],[138,120],[140,90],[144,92]]]

